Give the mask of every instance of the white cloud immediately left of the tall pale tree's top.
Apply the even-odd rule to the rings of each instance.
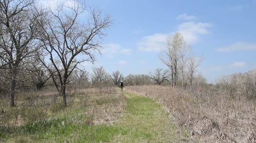
[[[137,42],[137,47],[141,51],[146,52],[157,52],[164,48],[164,43],[167,39],[168,34],[159,34],[145,36],[139,42]]]

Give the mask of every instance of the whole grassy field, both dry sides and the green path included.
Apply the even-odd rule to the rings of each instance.
[[[1,101],[2,142],[255,142],[255,100],[213,90],[127,86]]]

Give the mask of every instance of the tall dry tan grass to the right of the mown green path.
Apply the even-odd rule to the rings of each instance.
[[[126,90],[163,104],[179,127],[190,130],[190,142],[256,142],[255,99],[230,97],[216,88],[148,85]]]

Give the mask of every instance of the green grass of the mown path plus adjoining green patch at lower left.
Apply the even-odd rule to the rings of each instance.
[[[115,123],[88,126],[86,120],[91,118],[81,114],[86,110],[82,105],[58,117],[28,123],[15,133],[0,128],[0,137],[5,138],[0,142],[182,142],[186,133],[178,133],[162,105],[131,92],[119,93],[127,97],[127,107]]]

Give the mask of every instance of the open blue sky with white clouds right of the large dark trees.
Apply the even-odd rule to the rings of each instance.
[[[181,32],[195,55],[198,72],[213,83],[220,76],[256,68],[256,1],[105,1],[88,5],[109,14],[113,26],[94,66],[112,73],[148,74],[161,64],[167,35]],[[92,66],[85,64],[91,72]]]

